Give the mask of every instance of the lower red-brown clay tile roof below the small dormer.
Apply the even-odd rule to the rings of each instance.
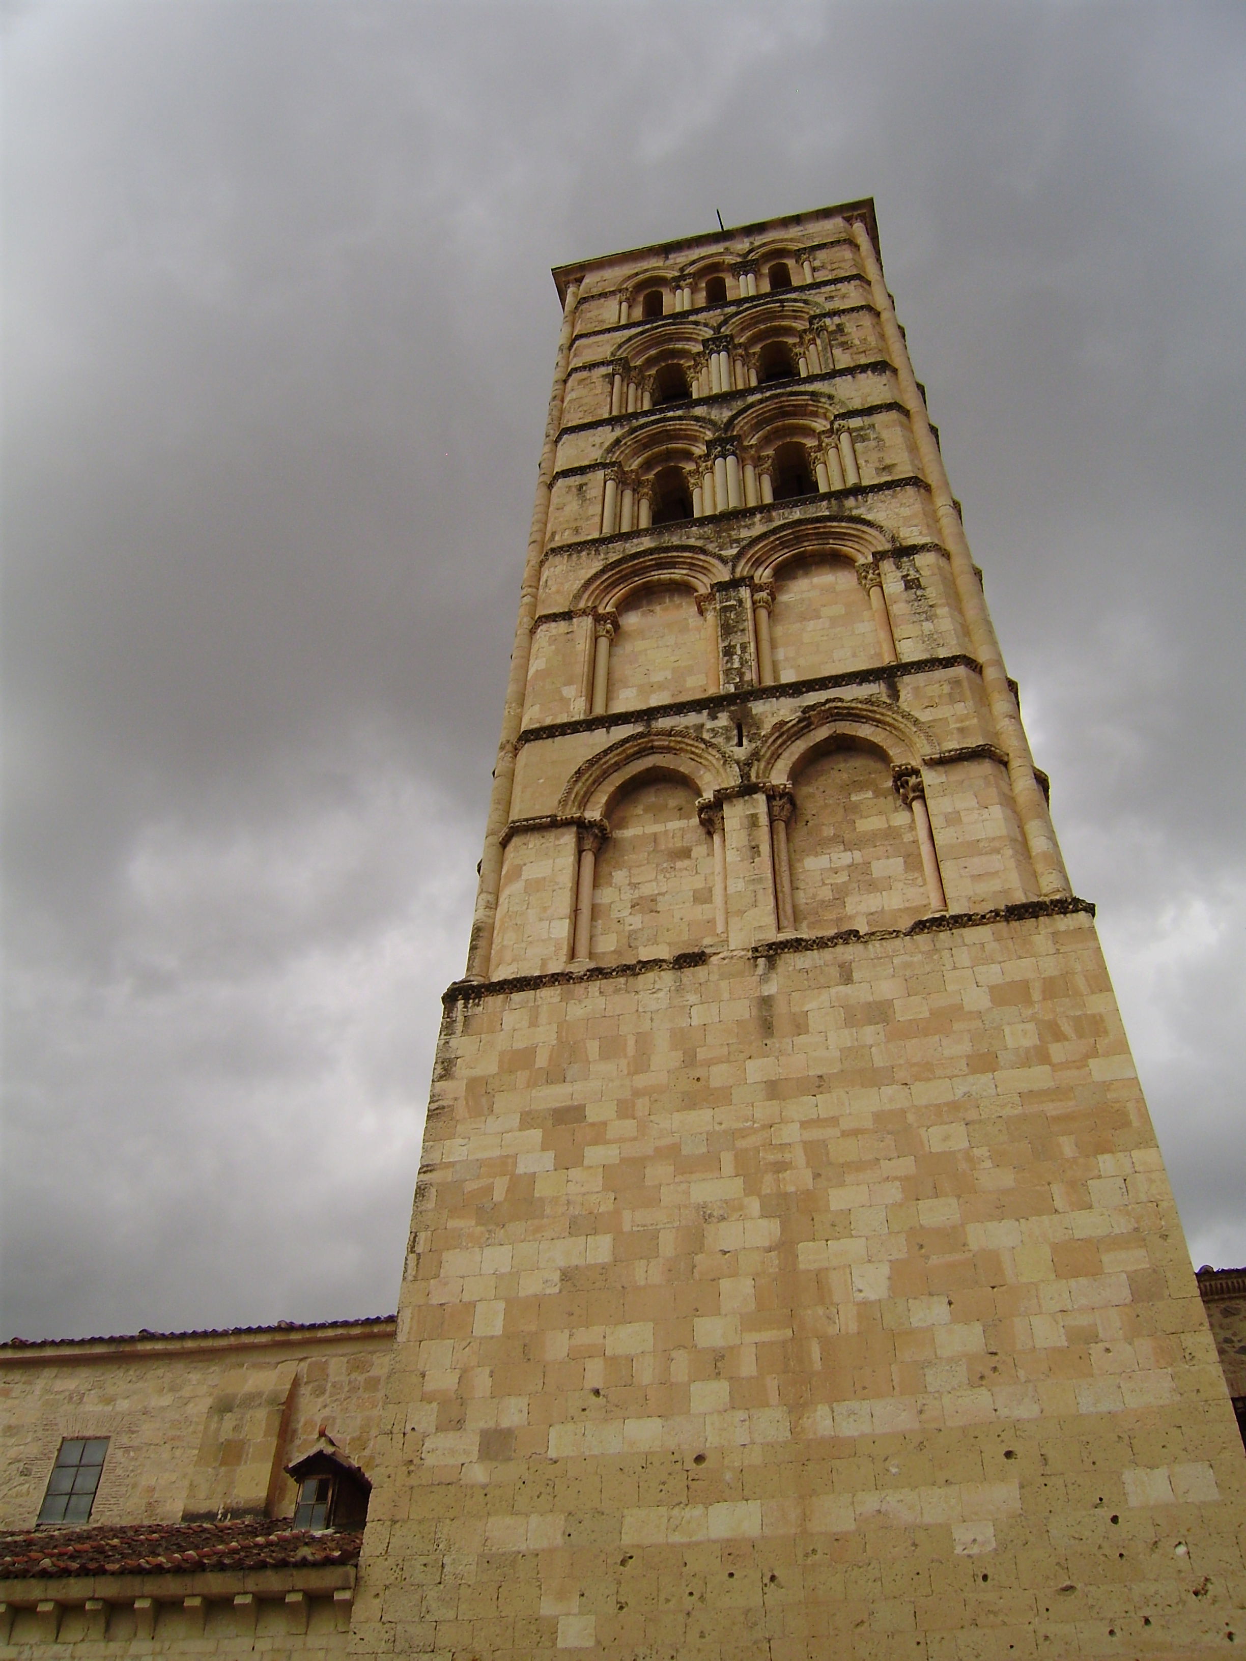
[[[136,1523],[0,1533],[0,1580],[78,1575],[188,1575],[209,1570],[357,1563],[362,1530],[311,1533],[289,1518],[234,1523]]]

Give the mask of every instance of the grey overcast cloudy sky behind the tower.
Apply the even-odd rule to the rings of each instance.
[[[1246,1262],[1246,7],[10,3],[0,1335],[397,1297],[555,262],[877,201],[1194,1262]]]

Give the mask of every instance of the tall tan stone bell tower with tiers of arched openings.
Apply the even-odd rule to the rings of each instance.
[[[555,279],[357,1653],[1246,1648],[1246,1458],[872,203]]]

